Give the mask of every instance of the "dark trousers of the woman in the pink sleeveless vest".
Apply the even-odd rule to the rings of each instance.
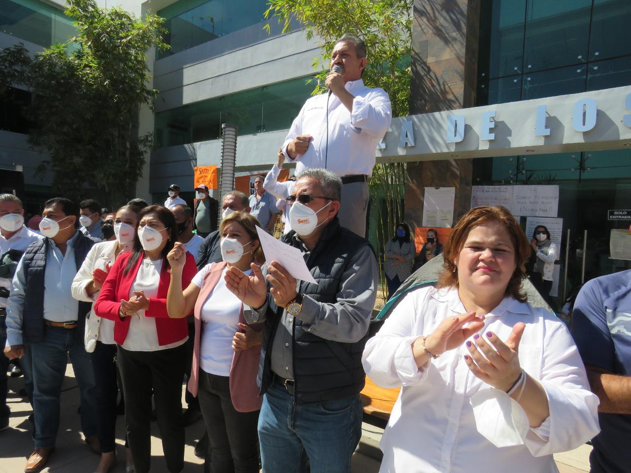
[[[199,406],[206,423],[213,473],[258,473],[259,411],[239,412],[227,376],[199,370]]]

